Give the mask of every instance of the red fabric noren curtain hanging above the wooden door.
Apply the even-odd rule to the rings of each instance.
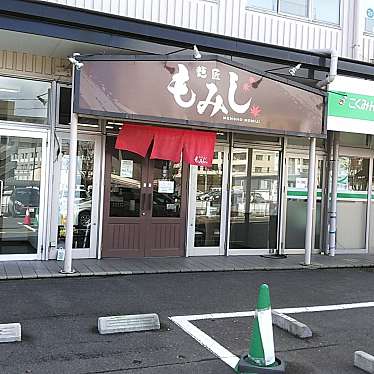
[[[145,157],[150,146],[151,159],[183,160],[190,165],[211,167],[216,133],[124,123],[115,147]]]

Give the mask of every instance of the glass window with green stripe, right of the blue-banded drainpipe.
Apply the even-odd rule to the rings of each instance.
[[[338,249],[364,249],[369,159],[340,157],[338,169]]]

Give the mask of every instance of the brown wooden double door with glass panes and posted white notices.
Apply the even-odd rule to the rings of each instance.
[[[103,257],[182,256],[187,169],[106,143]]]

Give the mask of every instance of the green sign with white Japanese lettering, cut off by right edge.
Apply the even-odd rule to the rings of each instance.
[[[328,115],[374,121],[374,96],[329,92]]]

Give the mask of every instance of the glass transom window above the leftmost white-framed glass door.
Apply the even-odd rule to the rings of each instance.
[[[0,77],[0,120],[47,124],[48,82]]]

